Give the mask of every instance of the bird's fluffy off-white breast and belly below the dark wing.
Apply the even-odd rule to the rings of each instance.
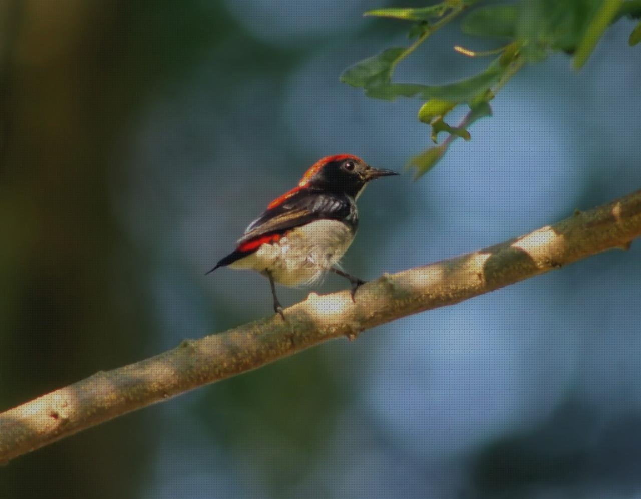
[[[317,220],[287,233],[278,242],[263,244],[230,267],[271,271],[276,282],[287,286],[311,283],[338,263],[354,239],[346,224]]]

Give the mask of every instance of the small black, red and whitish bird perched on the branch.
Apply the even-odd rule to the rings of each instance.
[[[236,249],[206,274],[225,266],[258,271],[269,279],[274,312],[283,320],[276,282],[299,287],[333,272],[349,280],[355,301],[356,289],[365,281],[342,270],[339,261],[358,228],[356,199],[371,180],[397,174],[372,168],[354,155],[321,158],[294,189],[267,205],[247,226]]]

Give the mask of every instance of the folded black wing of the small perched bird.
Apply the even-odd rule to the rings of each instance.
[[[237,244],[240,248],[265,235],[287,232],[318,219],[343,220],[352,212],[353,205],[345,196],[301,190],[249,224]]]

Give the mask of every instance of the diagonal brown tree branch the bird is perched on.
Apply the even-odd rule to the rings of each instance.
[[[453,305],[604,251],[641,235],[641,190],[511,241],[408,269],[349,291],[312,293],[274,315],[173,350],[100,371],[0,414],[0,462],[126,412],[250,371],[322,341]]]

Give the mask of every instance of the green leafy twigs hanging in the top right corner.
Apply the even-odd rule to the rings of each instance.
[[[594,51],[604,31],[620,17],[641,17],[638,0],[520,0],[476,6],[469,0],[445,0],[423,8],[380,8],[365,15],[413,21],[408,37],[417,37],[409,47],[392,47],[346,69],[340,81],[365,90],[377,99],[419,97],[427,101],[419,110],[419,121],[431,126],[431,139],[438,133],[449,137],[437,146],[414,156],[408,166],[417,177],[426,173],[442,158],[457,137],[470,139],[467,126],[492,114],[489,102],[496,92],[524,65],[545,60],[554,51],[572,55],[572,67],[579,69]],[[470,12],[467,12],[472,7]],[[468,56],[500,54],[486,69],[465,80],[445,85],[418,85],[392,81],[397,63],[410,55],[429,35],[465,13],[460,29],[467,35],[501,40],[503,46],[477,52],[454,47]],[[641,40],[641,24],[630,35],[629,44]],[[444,119],[456,106],[469,106],[469,114],[451,126]],[[482,106],[482,107],[479,107]]]

